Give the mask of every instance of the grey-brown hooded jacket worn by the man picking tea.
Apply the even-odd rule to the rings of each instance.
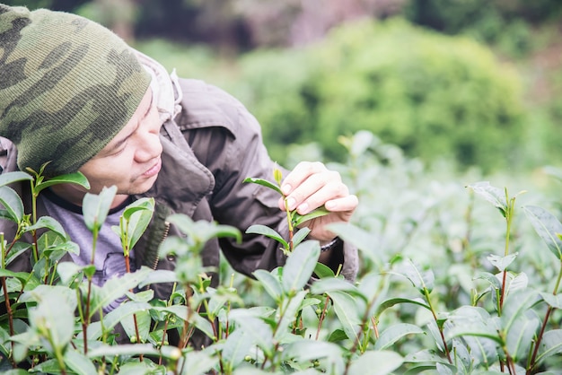
[[[159,257],[158,248],[171,235],[181,236],[166,221],[170,214],[186,214],[194,221],[215,221],[232,225],[244,233],[252,224],[263,224],[282,235],[288,234],[286,215],[277,206],[279,196],[243,179],[272,179],[276,164],[268,157],[258,121],[238,100],[215,86],[198,80],[179,79],[162,65],[138,53],[146,70],[153,75],[151,88],[162,120],[162,170],[153,188],[142,195],[155,199],[154,216],[135,247],[137,267],[174,269],[173,257]],[[18,170],[17,152],[8,140],[0,139],[0,166],[4,173]],[[13,188],[22,196],[26,213],[31,212],[27,182]],[[47,214],[38,205],[38,217]],[[0,220],[6,240],[15,234],[13,222]],[[70,233],[72,237],[72,233]],[[242,234],[241,243],[232,239],[214,239],[202,251],[205,266],[218,266],[219,251],[233,268],[251,275],[256,269],[271,270],[285,263],[277,241],[254,234]],[[29,240],[29,239],[28,239]],[[340,243],[333,249],[333,266],[343,264],[341,274],[347,280],[356,275],[356,249]],[[70,260],[65,257],[62,261]],[[14,271],[31,271],[24,253],[9,266]],[[216,281],[213,283],[216,284]],[[166,299],[170,285],[152,285],[155,295]]]

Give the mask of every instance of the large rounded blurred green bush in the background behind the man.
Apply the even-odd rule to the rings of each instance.
[[[312,48],[253,53],[241,66],[239,96],[279,161],[284,144],[308,142],[341,160],[338,136],[369,130],[426,161],[516,162],[520,77],[470,39],[398,19],[355,22]]]

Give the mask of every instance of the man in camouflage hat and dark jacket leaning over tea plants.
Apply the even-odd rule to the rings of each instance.
[[[117,186],[96,248],[98,284],[123,274],[122,249],[110,226],[142,196],[153,196],[156,204],[132,254],[136,269],[174,268],[173,258],[158,257],[162,240],[179,234],[166,222],[173,213],[233,225],[242,233],[257,223],[287,233],[283,200],[241,182],[271,179],[275,167],[258,122],[241,103],[206,83],[167,74],[111,31],[74,14],[0,4],[0,136],[4,172],[39,171],[48,162],[46,176],[79,170],[91,193]],[[30,212],[26,185],[14,188]],[[282,188],[289,208],[300,214],[321,205],[331,212],[306,223],[309,238],[321,241],[323,262],[335,269],[342,265],[342,274],[353,279],[356,249],[334,238],[326,225],[348,222],[356,196],[319,162],[299,164]],[[37,207],[79,244],[81,254],[72,260],[81,265],[90,262],[92,244],[81,215],[85,194],[76,185],[57,185],[40,195]],[[11,240],[15,227],[3,220],[0,231]],[[206,266],[217,266],[221,249],[236,270],[251,275],[285,262],[278,247],[274,240],[245,234],[241,244],[209,241],[202,257]],[[19,257],[12,267],[29,271],[31,257]],[[162,288],[154,285],[156,295],[167,298],[170,291]]]

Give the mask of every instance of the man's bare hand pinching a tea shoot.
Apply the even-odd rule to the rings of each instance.
[[[326,229],[332,222],[349,222],[356,210],[357,197],[341,181],[339,173],[328,170],[321,162],[300,162],[281,184],[289,210],[309,214],[324,205],[330,214],[304,222],[310,237],[321,242],[332,240],[336,235]],[[279,208],[285,210],[284,198],[279,199]]]

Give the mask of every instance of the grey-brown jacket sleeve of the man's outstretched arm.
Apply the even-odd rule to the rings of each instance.
[[[201,94],[200,90],[204,93]],[[190,129],[184,135],[198,160],[215,176],[215,188],[209,197],[215,220],[238,228],[243,238],[240,244],[231,239],[221,239],[224,256],[234,269],[246,275],[251,275],[258,268],[270,270],[283,265],[285,256],[276,240],[245,233],[250,225],[262,224],[285,239],[288,237],[286,214],[277,205],[280,196],[270,188],[242,181],[249,177],[273,181],[275,168],[283,170],[284,175],[287,171],[270,160],[258,121],[238,100],[209,85],[201,86],[194,92],[198,92],[197,97],[184,90],[184,107],[189,108],[191,113],[179,121],[180,128]],[[203,98],[206,100],[201,103]],[[209,106],[215,106],[215,110],[209,111],[212,109]],[[218,113],[219,116],[205,118],[193,111]],[[354,279],[356,249],[344,243],[333,251],[336,263],[343,261],[342,274],[347,279]]]

